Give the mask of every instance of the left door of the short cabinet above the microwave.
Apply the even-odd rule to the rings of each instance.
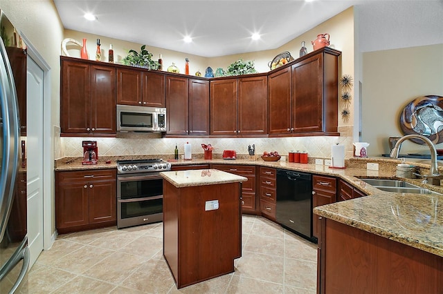
[[[142,73],[136,68],[117,68],[117,104],[142,106]]]

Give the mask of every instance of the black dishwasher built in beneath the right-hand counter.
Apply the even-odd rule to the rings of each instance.
[[[275,219],[305,239],[312,238],[312,175],[292,170],[277,170]]]

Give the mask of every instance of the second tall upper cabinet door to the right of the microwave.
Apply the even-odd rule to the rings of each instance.
[[[189,80],[189,135],[209,135],[209,81]]]

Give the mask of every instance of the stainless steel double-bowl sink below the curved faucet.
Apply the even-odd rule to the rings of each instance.
[[[442,195],[433,190],[422,188],[398,179],[360,179],[380,190],[394,193],[433,194]]]

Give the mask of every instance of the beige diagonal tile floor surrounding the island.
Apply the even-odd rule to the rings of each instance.
[[[60,235],[28,275],[29,293],[315,293],[316,245],[244,215],[235,273],[177,289],[163,259],[163,225]]]

